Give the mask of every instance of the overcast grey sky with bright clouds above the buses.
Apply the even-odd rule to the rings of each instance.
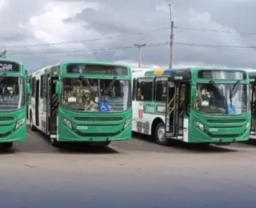
[[[167,66],[168,2],[0,0],[1,50],[6,49],[8,58],[24,62],[32,71],[64,60],[137,64],[138,50],[132,46],[146,43],[147,47],[142,48],[142,64]],[[246,48],[256,46],[255,0],[173,0],[172,3],[177,27],[174,64],[256,68],[256,51]]]

